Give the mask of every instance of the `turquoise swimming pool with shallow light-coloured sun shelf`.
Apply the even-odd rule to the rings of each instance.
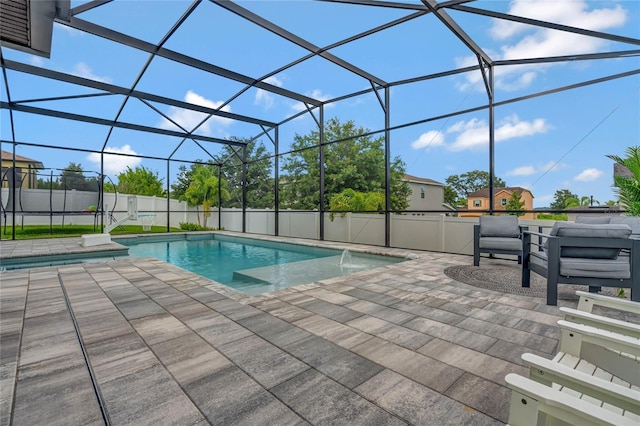
[[[404,260],[222,235],[118,242],[130,256],[154,257],[251,295]]]

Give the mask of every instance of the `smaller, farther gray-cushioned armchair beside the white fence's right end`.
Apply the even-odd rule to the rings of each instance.
[[[480,253],[511,254],[522,263],[522,231],[527,229],[517,216],[480,216],[473,226],[473,265],[480,264]]]

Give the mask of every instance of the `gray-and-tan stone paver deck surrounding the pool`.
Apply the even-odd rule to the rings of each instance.
[[[411,252],[262,296],[156,259],[4,271],[0,424],[506,422],[504,376],[555,353],[557,307],[444,275],[469,256]]]

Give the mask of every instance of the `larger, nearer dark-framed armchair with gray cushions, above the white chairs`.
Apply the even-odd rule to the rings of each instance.
[[[522,287],[533,271],[547,279],[547,305],[557,304],[558,284],[630,288],[631,300],[640,301],[640,239],[631,232],[626,224],[572,222],[556,222],[548,235],[524,231]]]

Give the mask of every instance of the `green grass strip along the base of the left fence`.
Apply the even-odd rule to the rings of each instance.
[[[171,232],[180,232],[179,228],[171,228]],[[54,225],[51,229],[49,225],[25,225],[24,228],[16,226],[16,240],[29,240],[35,238],[66,238],[80,237],[86,234],[97,234],[99,228],[94,230],[93,225]],[[151,234],[154,232],[167,232],[166,226],[152,226],[151,231],[143,231],[142,225],[122,225],[111,231],[111,235],[126,234]],[[11,239],[11,227],[7,226],[6,231],[2,228],[2,238]]]

